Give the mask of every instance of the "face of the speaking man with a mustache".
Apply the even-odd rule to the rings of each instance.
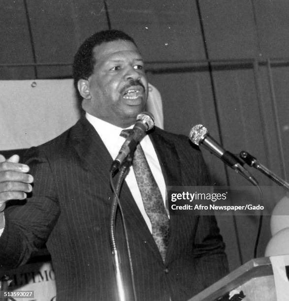
[[[96,46],[94,57],[93,74],[87,81],[80,80],[89,92],[83,100],[84,110],[117,126],[133,124],[148,96],[138,49],[130,41],[116,40]]]

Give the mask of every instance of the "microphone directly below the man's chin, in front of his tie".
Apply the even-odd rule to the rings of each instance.
[[[133,128],[129,131],[128,137],[122,145],[118,155],[113,161],[110,172],[114,173],[121,166],[128,156],[136,148],[137,143],[145,136],[146,131],[155,126],[153,114],[142,112],[137,115]]]

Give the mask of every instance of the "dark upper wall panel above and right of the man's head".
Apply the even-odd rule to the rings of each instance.
[[[145,60],[205,58],[195,1],[107,2],[112,27],[131,34]]]

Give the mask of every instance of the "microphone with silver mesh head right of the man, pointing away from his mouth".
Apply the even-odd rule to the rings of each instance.
[[[258,185],[257,180],[242,166],[241,160],[231,152],[224,150],[217,141],[210,137],[208,130],[202,124],[194,125],[189,137],[193,144],[206,148],[253,185]]]

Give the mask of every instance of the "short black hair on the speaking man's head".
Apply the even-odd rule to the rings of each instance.
[[[82,97],[77,89],[77,84],[80,79],[88,79],[94,72],[96,63],[93,53],[94,48],[102,43],[116,40],[130,41],[136,46],[134,40],[121,30],[101,30],[88,37],[78,48],[72,65],[72,77],[74,88],[80,100],[82,100]]]

